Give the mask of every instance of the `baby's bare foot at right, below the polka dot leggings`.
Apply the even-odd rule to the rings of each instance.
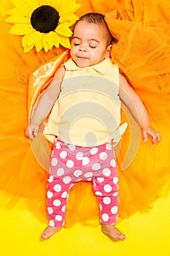
[[[104,235],[109,236],[113,241],[123,241],[126,238],[125,235],[115,227],[115,225],[101,224],[101,231]]]

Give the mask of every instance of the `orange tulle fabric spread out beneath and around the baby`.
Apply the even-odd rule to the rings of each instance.
[[[116,148],[121,220],[137,211],[147,211],[158,197],[169,192],[170,4],[169,0],[161,4],[157,0],[77,2],[82,4],[77,11],[79,16],[85,12],[106,16],[115,37],[112,61],[141,97],[152,127],[162,134],[159,145],[144,143],[138,125],[123,108],[122,119],[129,126]],[[47,53],[33,49],[23,54],[21,37],[10,35],[11,25],[4,22],[5,11],[12,3],[1,4],[0,189],[9,192],[8,208],[24,197],[36,217],[47,222],[45,192],[50,145],[41,133],[30,143],[24,137],[24,129],[39,93],[69,52],[53,48]],[[76,222],[98,225],[98,203],[90,182],[72,187],[66,227]]]

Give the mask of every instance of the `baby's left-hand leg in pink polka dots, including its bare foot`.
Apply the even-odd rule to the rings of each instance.
[[[74,182],[50,176],[47,184],[47,217],[49,225],[42,232],[42,239],[48,239],[63,228],[66,218],[66,202]]]

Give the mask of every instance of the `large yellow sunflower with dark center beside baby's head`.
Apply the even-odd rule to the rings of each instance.
[[[76,0],[13,0],[14,9],[7,12],[5,21],[13,23],[10,34],[23,36],[23,52],[32,48],[39,52],[51,50],[53,45],[70,48],[70,26],[78,20],[74,14],[80,8]]]

